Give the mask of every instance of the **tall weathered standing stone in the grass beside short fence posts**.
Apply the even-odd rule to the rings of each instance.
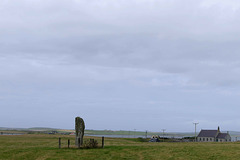
[[[83,144],[84,129],[85,129],[85,124],[83,119],[80,117],[76,117],[75,118],[76,146],[81,146]],[[78,141],[78,139],[80,139],[80,141]],[[79,142],[80,144],[78,144]]]

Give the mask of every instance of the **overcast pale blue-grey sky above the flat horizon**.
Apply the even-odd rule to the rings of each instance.
[[[240,131],[240,1],[0,0],[0,127]]]

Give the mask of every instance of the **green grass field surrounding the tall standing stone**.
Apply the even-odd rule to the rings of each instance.
[[[62,149],[58,149],[58,137]],[[85,139],[90,137],[85,137]],[[100,138],[96,138],[101,142]],[[67,139],[72,148],[67,148]],[[105,148],[77,149],[74,136],[62,135],[1,135],[0,159],[240,159],[240,143],[149,143],[137,139],[105,138]],[[101,143],[100,143],[101,145]]]

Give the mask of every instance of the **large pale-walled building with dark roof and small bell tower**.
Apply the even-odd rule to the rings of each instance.
[[[201,130],[197,136],[198,142],[231,142],[229,133],[221,133],[217,130]]]

